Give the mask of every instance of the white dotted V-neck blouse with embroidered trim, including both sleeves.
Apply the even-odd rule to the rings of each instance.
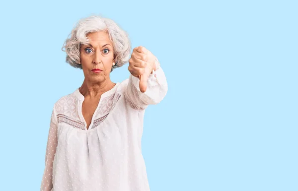
[[[87,129],[78,88],[54,105],[40,191],[149,191],[141,138],[145,109],[167,92],[161,67],[142,93],[130,77],[101,95]]]

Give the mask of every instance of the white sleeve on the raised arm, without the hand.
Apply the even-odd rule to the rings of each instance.
[[[158,104],[167,93],[166,77],[160,66],[149,75],[146,92],[141,92],[139,84],[140,79],[130,74],[124,93],[126,102],[137,110],[144,110],[150,104]]]

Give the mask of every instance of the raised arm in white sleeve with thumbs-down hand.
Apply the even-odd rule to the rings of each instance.
[[[158,104],[167,93],[167,81],[157,58],[145,47],[134,49],[129,60],[128,86],[125,99],[134,109]]]

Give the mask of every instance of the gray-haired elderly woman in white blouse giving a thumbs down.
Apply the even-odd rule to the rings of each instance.
[[[158,60],[142,46],[130,57],[127,33],[96,15],[79,20],[63,48],[84,81],[54,104],[41,191],[149,191],[141,138],[145,109],[167,92]],[[129,78],[112,82],[126,63]]]

